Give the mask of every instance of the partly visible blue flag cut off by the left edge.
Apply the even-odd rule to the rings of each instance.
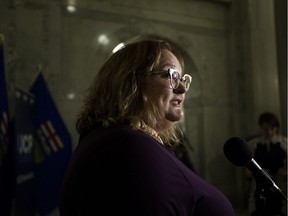
[[[10,215],[11,172],[9,147],[8,96],[5,79],[4,38],[0,35],[0,215]],[[11,158],[10,158],[11,159]]]

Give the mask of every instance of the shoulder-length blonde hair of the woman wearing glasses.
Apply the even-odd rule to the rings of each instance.
[[[89,132],[96,124],[108,127],[129,123],[134,129],[155,128],[161,122],[157,107],[147,100],[143,90],[145,76],[157,68],[163,49],[171,51],[184,70],[182,56],[166,41],[142,39],[125,45],[112,54],[96,74],[87,89],[76,129],[79,134]],[[179,128],[175,124],[158,135],[165,144],[178,143]]]

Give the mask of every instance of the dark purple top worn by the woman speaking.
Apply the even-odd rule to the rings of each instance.
[[[128,126],[96,128],[75,149],[61,216],[235,216],[227,198],[173,152]]]

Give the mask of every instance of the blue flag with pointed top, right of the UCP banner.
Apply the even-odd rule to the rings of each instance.
[[[30,89],[35,96],[36,210],[40,216],[58,208],[59,190],[72,153],[71,136],[42,73]]]

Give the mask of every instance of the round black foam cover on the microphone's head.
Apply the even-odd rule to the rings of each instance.
[[[223,151],[226,158],[236,166],[246,166],[252,160],[252,149],[239,137],[231,137],[224,146]]]

